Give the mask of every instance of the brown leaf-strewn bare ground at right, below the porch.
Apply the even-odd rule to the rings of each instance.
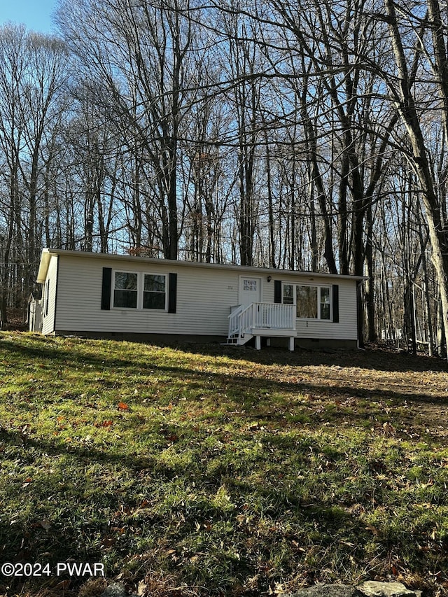
[[[386,434],[448,439],[448,364],[440,358],[378,345],[359,351],[243,349],[233,354],[236,360],[252,361],[254,371],[266,365],[267,379],[305,392],[310,414],[317,418],[325,404],[328,419],[328,402],[333,402],[335,420],[345,409],[345,423],[356,424],[356,410],[365,416],[371,405],[372,426],[381,426]]]

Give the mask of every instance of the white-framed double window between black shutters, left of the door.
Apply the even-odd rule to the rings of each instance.
[[[167,276],[144,272],[114,272],[113,307],[160,309],[167,306]]]

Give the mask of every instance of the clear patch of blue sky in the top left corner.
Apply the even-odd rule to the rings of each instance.
[[[0,24],[7,21],[24,23],[27,29],[51,33],[51,15],[56,0],[3,0],[0,1]]]

